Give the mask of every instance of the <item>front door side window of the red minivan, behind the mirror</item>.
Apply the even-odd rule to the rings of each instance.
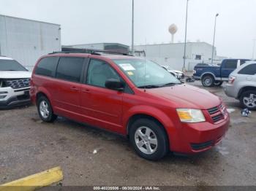
[[[116,71],[104,61],[91,59],[87,73],[86,83],[99,87],[105,87],[107,79],[120,79]]]

